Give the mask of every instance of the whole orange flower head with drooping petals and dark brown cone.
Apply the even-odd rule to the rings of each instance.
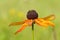
[[[17,34],[18,32],[21,32],[22,30],[24,30],[27,26],[31,26],[33,22],[44,27],[48,27],[48,26],[54,27],[54,23],[51,22],[51,20],[53,19],[55,19],[54,15],[50,15],[44,18],[38,18],[38,13],[35,10],[29,10],[27,12],[27,20],[22,22],[13,22],[9,26],[22,24],[22,27],[19,30],[17,30],[17,32],[15,33]]]

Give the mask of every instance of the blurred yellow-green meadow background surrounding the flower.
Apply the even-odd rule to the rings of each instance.
[[[11,22],[25,20],[27,11],[32,9],[38,12],[39,18],[55,14],[53,22],[57,40],[60,40],[60,0],[0,0],[0,40],[32,40],[31,27],[14,35],[21,25],[8,26]],[[45,29],[35,24],[34,32],[35,40],[53,40],[50,26]]]

